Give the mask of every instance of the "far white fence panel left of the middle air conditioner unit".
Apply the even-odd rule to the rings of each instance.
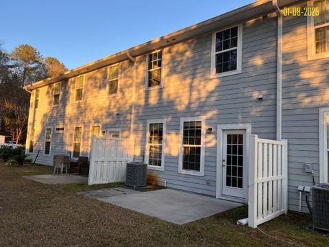
[[[94,137],[90,152],[88,185],[125,181],[125,167],[134,158],[134,140]]]

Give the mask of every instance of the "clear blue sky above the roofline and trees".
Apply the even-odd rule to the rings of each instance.
[[[6,51],[26,43],[73,69],[251,2],[4,0],[0,40]]]

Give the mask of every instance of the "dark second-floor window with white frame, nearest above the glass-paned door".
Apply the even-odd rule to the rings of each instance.
[[[212,75],[241,72],[241,25],[215,32],[212,37]]]

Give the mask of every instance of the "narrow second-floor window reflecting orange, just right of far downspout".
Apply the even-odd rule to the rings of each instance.
[[[147,87],[161,85],[162,51],[147,56]]]

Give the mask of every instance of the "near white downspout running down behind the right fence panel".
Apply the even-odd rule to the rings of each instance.
[[[278,41],[276,57],[276,139],[282,139],[282,14],[278,0],[272,1],[278,16]]]

